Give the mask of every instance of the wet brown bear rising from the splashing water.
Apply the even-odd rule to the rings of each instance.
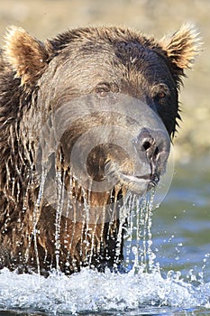
[[[71,274],[123,260],[122,208],[159,182],[199,51],[88,27],[45,43],[11,27],[0,60],[0,266]]]

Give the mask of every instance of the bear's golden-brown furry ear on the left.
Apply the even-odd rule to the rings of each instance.
[[[4,54],[22,85],[32,84],[41,77],[49,57],[42,42],[15,26],[10,27],[5,36]]]

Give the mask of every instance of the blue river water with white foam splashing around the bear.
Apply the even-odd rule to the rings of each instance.
[[[177,165],[152,216],[154,268],[66,276],[0,273],[0,315],[210,315],[210,166]]]

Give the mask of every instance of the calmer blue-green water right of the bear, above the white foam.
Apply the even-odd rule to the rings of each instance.
[[[153,216],[153,246],[163,274],[193,270],[210,281],[210,165],[208,159],[175,167],[169,194]],[[190,272],[191,273],[191,272]],[[199,278],[197,276],[197,278]]]

